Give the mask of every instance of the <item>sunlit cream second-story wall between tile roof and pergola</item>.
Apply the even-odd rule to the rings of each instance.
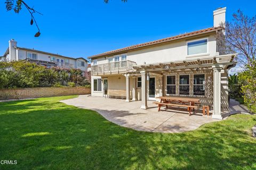
[[[194,40],[207,39],[207,52],[198,55],[188,55],[187,43]],[[137,65],[141,64],[151,64],[151,63],[161,63],[170,62],[178,60],[186,60],[188,58],[200,58],[206,56],[215,56],[217,53],[215,32],[208,33],[203,36],[190,37],[181,40],[174,40],[169,43],[158,44],[150,47],[143,47],[139,49],[134,49],[126,53],[127,60],[136,62]],[[109,58],[114,58],[116,55],[106,56],[97,58],[98,64],[108,63]],[[121,60],[120,60],[121,61]],[[93,65],[93,60],[92,60]]]

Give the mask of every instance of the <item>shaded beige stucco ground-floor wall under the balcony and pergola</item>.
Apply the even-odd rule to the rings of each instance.
[[[179,75],[182,74],[189,74],[189,95],[179,95]],[[193,94],[193,84],[194,84],[194,75],[195,74],[205,74],[205,95],[204,96],[195,96]],[[168,95],[166,94],[166,77],[167,75],[175,75],[176,76],[176,95]],[[180,72],[173,72],[168,73],[165,75],[158,75],[158,74],[150,74],[150,77],[155,77],[155,92],[156,97],[159,96],[182,96],[182,97],[195,97],[201,98],[201,102],[203,105],[213,106],[213,71],[212,70],[204,70],[204,71],[180,71]],[[93,78],[100,78],[100,77],[93,77]],[[108,79],[108,89],[111,90],[125,90],[126,89],[126,79],[124,75],[114,75],[108,77],[102,77],[102,79]],[[137,77],[133,79],[130,77],[130,97],[132,98],[132,88],[133,88],[133,80],[136,81],[136,95],[135,97],[137,100],[141,99],[141,88],[137,88]],[[103,84],[102,84],[103,88]],[[148,82],[147,82],[148,88]],[[92,83],[93,89],[93,83]],[[101,92],[93,92],[92,96],[103,96],[103,90]],[[224,73],[221,74],[221,106],[227,107],[228,106],[228,84],[227,84],[227,71],[225,70]]]

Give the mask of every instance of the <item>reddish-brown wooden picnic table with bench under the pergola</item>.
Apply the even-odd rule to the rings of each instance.
[[[198,108],[197,104],[200,104],[200,99],[198,98],[185,98],[185,97],[156,97],[160,99],[160,102],[154,102],[158,105],[158,112],[161,110],[162,106],[174,106],[174,107],[187,107],[189,116],[191,114],[191,109],[195,111]]]

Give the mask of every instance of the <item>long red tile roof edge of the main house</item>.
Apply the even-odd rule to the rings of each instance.
[[[158,40],[155,40],[155,41],[150,41],[148,43],[142,43],[142,44],[137,44],[137,45],[133,45],[133,46],[125,47],[125,48],[119,48],[119,49],[111,50],[109,52],[93,55],[93,56],[90,56],[88,58],[103,57],[103,56],[106,56],[106,55],[109,55],[109,54],[116,54],[116,53],[120,53],[120,52],[125,52],[127,50],[131,50],[131,49],[141,48],[141,47],[145,47],[145,46],[151,46],[151,45],[160,44],[160,43],[166,43],[166,42],[169,42],[169,41],[182,39],[182,38],[186,38],[186,37],[191,37],[191,36],[196,36],[196,35],[201,35],[203,33],[214,32],[214,31],[221,30],[221,29],[222,29],[222,27],[206,28],[206,29],[202,29],[202,30],[198,30],[198,31],[184,33],[184,34],[181,34],[181,35],[178,35],[178,36],[173,36],[173,37],[158,39]]]

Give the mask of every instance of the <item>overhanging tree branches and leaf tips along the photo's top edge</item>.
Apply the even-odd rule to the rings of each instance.
[[[109,0],[103,0],[106,4],[109,2]],[[127,0],[121,0],[122,2],[127,2]],[[41,35],[40,33],[40,29],[37,25],[36,19],[34,17],[34,13],[39,13],[38,11],[36,11],[33,7],[30,7],[29,5],[27,5],[24,1],[22,0],[5,0],[5,8],[7,11],[14,11],[15,13],[19,13],[20,10],[22,9],[22,5],[24,5],[28,12],[31,15],[31,20],[30,20],[30,25],[33,25],[34,22],[36,24],[36,27],[38,29],[38,32],[35,34],[35,37],[39,37]],[[42,14],[41,14],[42,15]]]

